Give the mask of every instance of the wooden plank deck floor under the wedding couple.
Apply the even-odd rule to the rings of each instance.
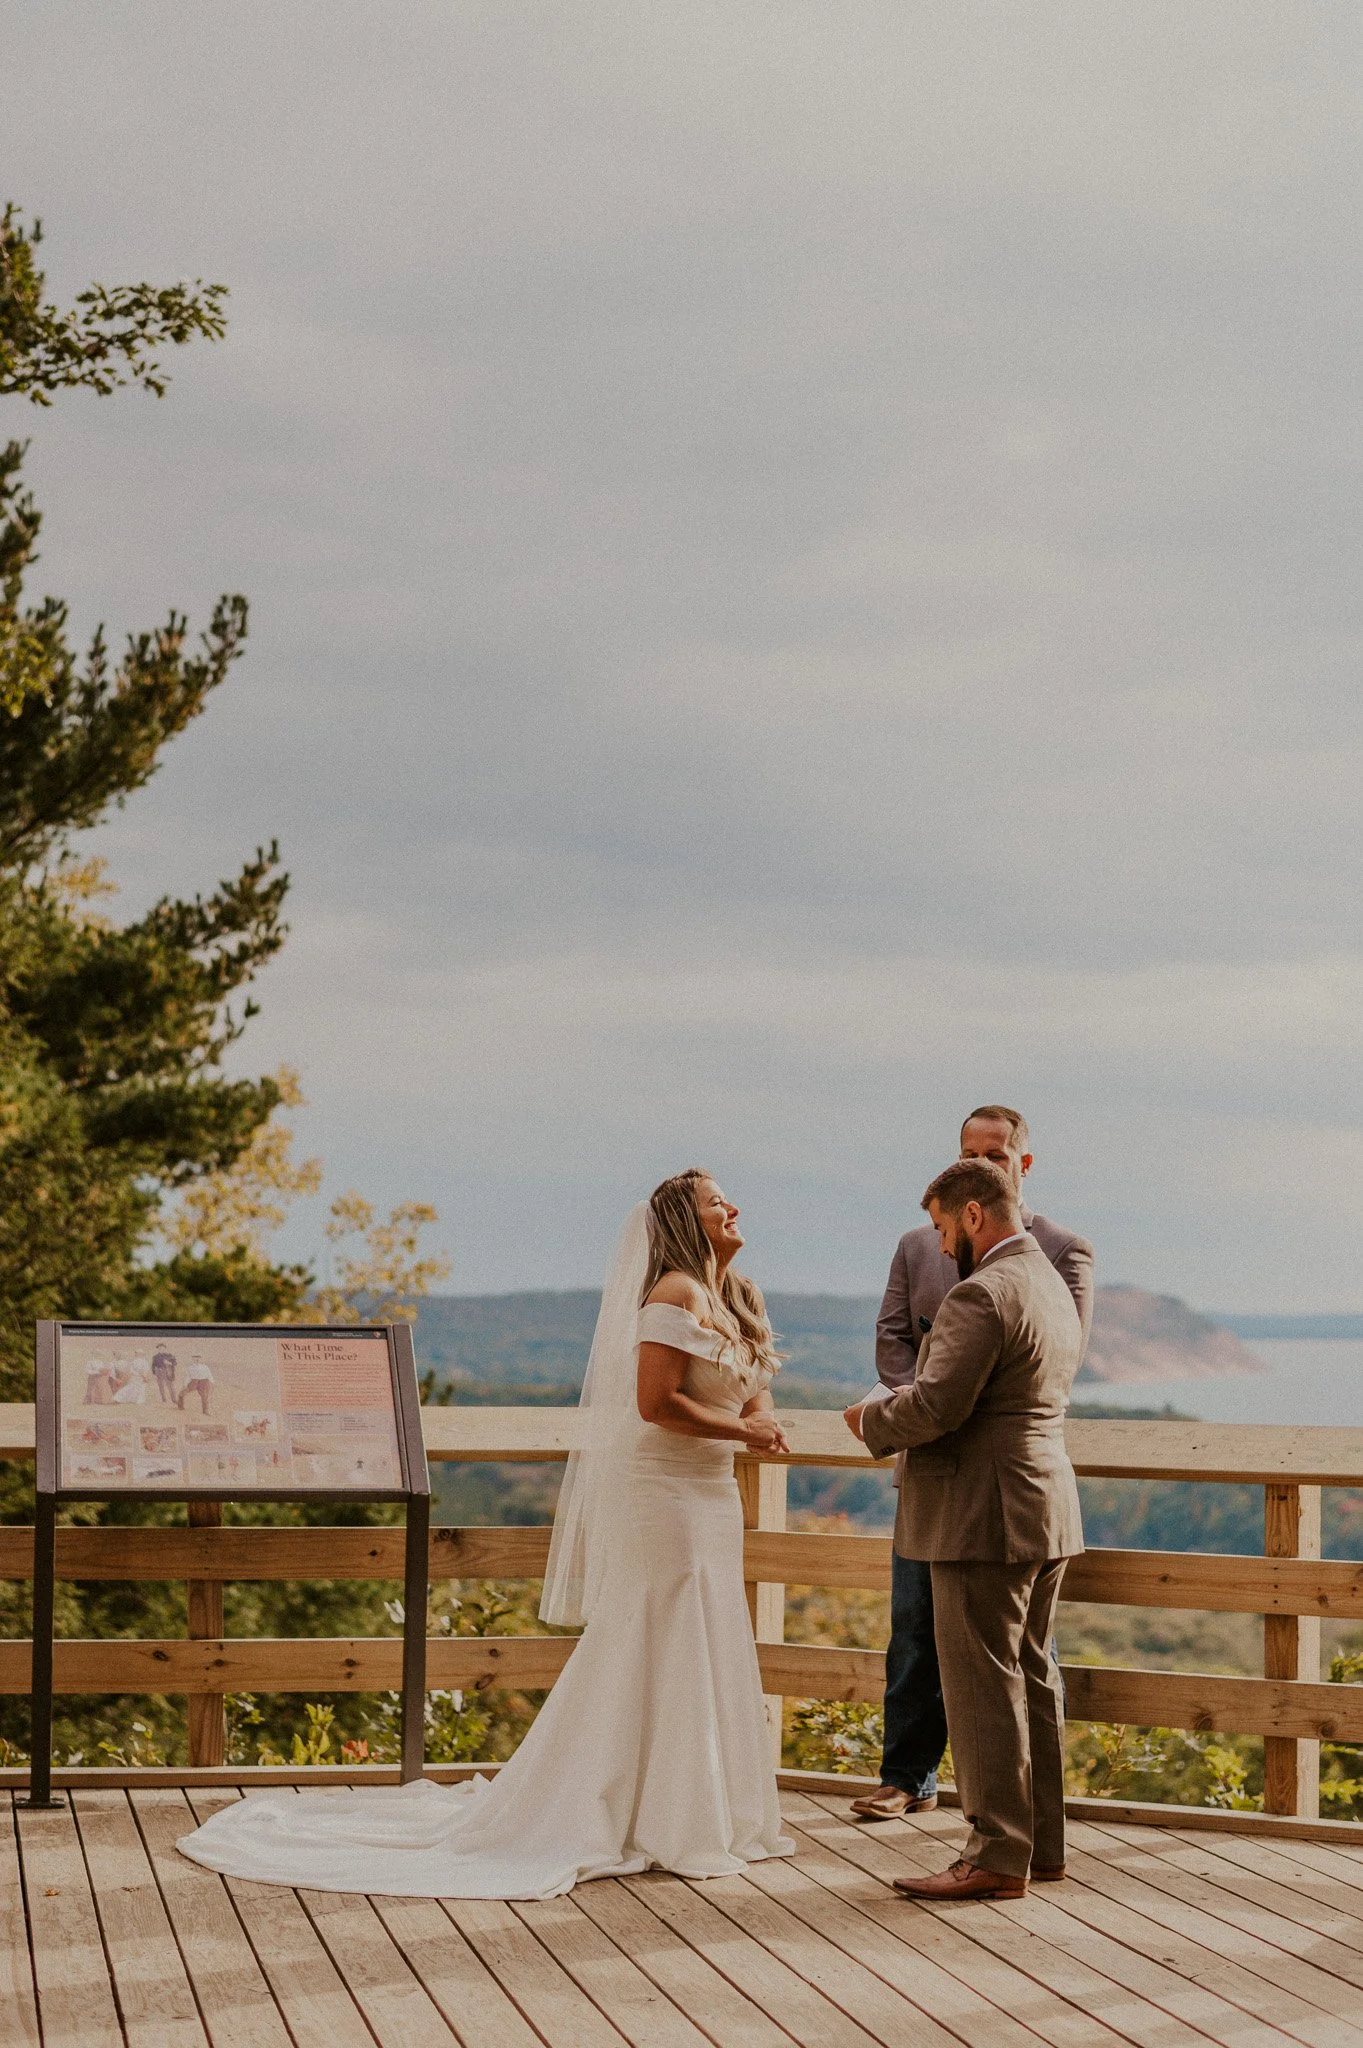
[[[925,1909],[888,1880],[948,1810],[858,1829],[786,1794],[792,1862],[585,1884],[546,1905],[221,1880],[176,1837],[217,1790],[4,1810],[4,2048],[1363,2048],[1363,1849],[1076,1823],[1070,1876]]]

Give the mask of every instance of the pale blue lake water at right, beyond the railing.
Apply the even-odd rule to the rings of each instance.
[[[1363,1430],[1363,1339],[1246,1337],[1267,1372],[1216,1380],[1085,1380],[1074,1405],[1177,1407],[1199,1421],[1300,1421]]]

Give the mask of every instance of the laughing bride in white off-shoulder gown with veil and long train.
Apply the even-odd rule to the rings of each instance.
[[[180,1849],[266,1884],[426,1898],[555,1898],[587,1878],[718,1878],[790,1855],[743,1595],[735,1446],[788,1450],[772,1325],[733,1270],[739,1210],[665,1180],[602,1292],[540,1618],[585,1622],[495,1778],[258,1792]]]

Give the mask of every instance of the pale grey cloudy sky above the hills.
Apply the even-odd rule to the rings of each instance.
[[[1099,1280],[1363,1309],[1353,0],[6,0],[84,639],[252,602],[88,838],[280,840],[239,1071],[448,1286],[688,1163],[870,1292],[976,1102]],[[315,1255],[323,1200],[280,1249]]]

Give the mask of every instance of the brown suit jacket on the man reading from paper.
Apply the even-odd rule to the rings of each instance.
[[[862,1415],[876,1458],[909,1452],[900,1556],[1023,1565],[1083,1550],[1064,1450],[1083,1341],[1070,1290],[1031,1235],[956,1282],[913,1382]]]

